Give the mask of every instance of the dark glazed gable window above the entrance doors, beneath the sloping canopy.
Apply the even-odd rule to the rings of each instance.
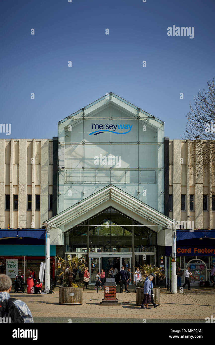
[[[156,245],[156,232],[112,207],[65,233],[66,253],[156,252]]]

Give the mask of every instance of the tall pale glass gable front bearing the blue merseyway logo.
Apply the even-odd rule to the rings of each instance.
[[[113,93],[58,122],[58,213],[110,183],[163,213],[164,122]]]

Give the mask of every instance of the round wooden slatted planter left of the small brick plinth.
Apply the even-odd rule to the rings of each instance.
[[[59,287],[59,304],[82,304],[83,303],[83,287]]]

